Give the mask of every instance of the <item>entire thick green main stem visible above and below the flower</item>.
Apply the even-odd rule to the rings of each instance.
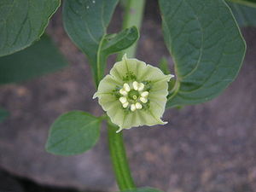
[[[143,20],[145,0],[127,0],[125,5],[125,18],[123,29],[130,26],[137,26],[140,29]],[[119,59],[126,53],[130,57],[134,57],[137,49],[137,43],[133,44],[129,49],[122,51],[118,55]],[[113,171],[120,190],[135,189],[136,185],[131,177],[129,163],[125,154],[125,144],[122,132],[116,133],[118,127],[108,121],[108,145],[113,164]]]

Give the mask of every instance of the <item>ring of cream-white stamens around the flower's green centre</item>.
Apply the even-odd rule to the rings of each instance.
[[[122,89],[119,93],[122,95],[119,97],[123,108],[129,108],[132,112],[137,109],[142,109],[143,104],[148,102],[148,91],[143,91],[145,85],[133,81],[131,84],[123,84]]]

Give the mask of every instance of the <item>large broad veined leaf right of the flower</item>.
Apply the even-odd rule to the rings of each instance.
[[[207,102],[235,78],[246,44],[223,0],[160,0],[176,84],[167,108]]]

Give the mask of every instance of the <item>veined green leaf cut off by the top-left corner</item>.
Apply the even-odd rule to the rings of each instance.
[[[0,56],[25,49],[44,33],[60,0],[1,0]]]

